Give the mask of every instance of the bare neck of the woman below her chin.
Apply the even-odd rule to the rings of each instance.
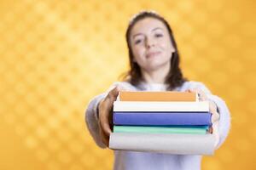
[[[154,71],[145,71],[142,70],[143,79],[147,83],[161,83],[164,84],[166,82],[166,76],[170,71],[170,66],[161,68]]]

